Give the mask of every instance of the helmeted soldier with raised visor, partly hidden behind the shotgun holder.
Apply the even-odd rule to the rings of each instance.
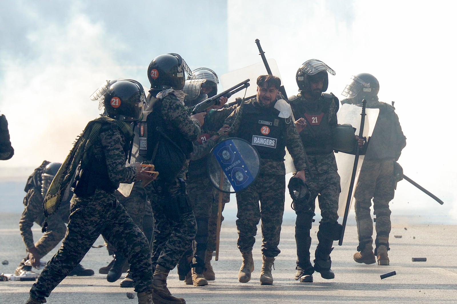
[[[184,103],[188,107],[218,93],[219,79],[213,70],[201,67],[192,71],[192,74],[186,80],[183,90],[187,93]],[[208,248],[207,244],[210,237],[214,237],[214,239],[216,237],[215,229],[211,229],[214,235],[209,235],[209,223],[212,223],[212,227],[217,224],[218,200],[215,200],[215,194],[217,193],[218,196],[218,191],[212,186],[207,176],[206,163],[208,153],[219,139],[217,131],[236,107],[221,108],[225,103],[227,103],[227,98],[221,97],[217,105],[206,110],[208,115],[205,116],[205,128],[201,130],[198,139],[194,141],[194,149],[190,155],[191,161],[187,172],[186,187],[197,221],[197,234],[193,242],[193,260],[191,248],[178,263],[178,274],[181,280],[186,280],[186,284],[193,283],[194,286],[205,286],[208,284],[207,281],[215,280],[211,266],[213,251],[216,249],[215,240],[213,242],[214,247]],[[225,198],[224,203],[229,200],[228,195],[223,195],[223,198]],[[216,209],[215,213],[213,212],[214,209]]]

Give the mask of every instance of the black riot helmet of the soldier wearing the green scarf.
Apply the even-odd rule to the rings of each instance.
[[[109,86],[103,104],[108,117],[132,122],[142,118],[145,101],[143,86],[135,80],[126,79]]]

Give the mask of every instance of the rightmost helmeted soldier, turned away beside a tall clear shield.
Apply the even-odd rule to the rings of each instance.
[[[368,140],[367,151],[360,170],[354,192],[357,235],[359,246],[354,253],[357,263],[388,265],[389,233],[391,229],[389,202],[395,190],[394,168],[401,168],[396,163],[402,149],[406,146],[406,137],[401,129],[399,118],[393,106],[380,102],[377,98],[379,82],[368,73],[351,77],[342,95],[348,97],[341,103],[361,104],[367,100],[367,108],[378,108],[379,115],[373,134]],[[400,169],[400,171],[402,171]],[[403,176],[402,176],[403,178]],[[373,222],[370,207],[373,199],[373,213],[376,215],[376,248],[373,252]]]

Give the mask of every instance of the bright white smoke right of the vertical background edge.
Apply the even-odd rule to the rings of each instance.
[[[274,58],[288,95],[296,94],[295,74],[317,58],[336,71],[329,89],[340,98],[351,75],[373,74],[379,98],[395,101],[407,146],[399,163],[404,173],[445,201],[401,181],[392,208],[411,216],[431,211],[457,219],[457,161],[452,88],[457,77],[454,54],[456,4],[436,1],[228,0],[229,70],[261,62],[255,39]],[[255,82],[251,81],[254,85]],[[447,134],[452,134],[449,136]]]

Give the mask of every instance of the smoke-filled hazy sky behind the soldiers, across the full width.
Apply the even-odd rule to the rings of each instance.
[[[312,58],[335,70],[327,92],[340,99],[351,75],[377,77],[379,98],[395,101],[407,137],[399,160],[404,173],[445,201],[440,206],[401,181],[393,208],[455,219],[457,5],[449,3],[2,1],[0,113],[8,118],[16,155],[0,167],[63,161],[98,115],[89,96],[106,79],[134,78],[147,87],[149,62],[169,52],[191,69],[206,66],[221,75],[260,62],[259,39],[288,95],[297,93],[298,67]]]

